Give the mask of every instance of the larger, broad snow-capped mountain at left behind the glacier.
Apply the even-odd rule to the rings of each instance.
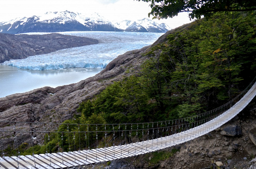
[[[65,31],[123,31],[99,14],[90,17],[70,11],[46,12],[42,16],[16,18],[0,23],[1,33],[65,32]]]

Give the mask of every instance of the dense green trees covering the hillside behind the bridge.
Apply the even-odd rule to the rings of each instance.
[[[79,123],[176,119],[228,102],[255,76],[255,14],[220,12],[172,31],[140,70],[81,103]]]

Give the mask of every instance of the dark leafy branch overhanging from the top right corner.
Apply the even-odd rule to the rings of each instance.
[[[137,0],[140,1],[140,0]],[[209,17],[218,11],[253,11],[256,1],[251,0],[141,0],[151,2],[153,18],[172,18],[180,12],[190,12],[190,18]]]

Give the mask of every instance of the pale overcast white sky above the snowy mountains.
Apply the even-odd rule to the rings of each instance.
[[[0,22],[19,17],[40,16],[48,11],[71,11],[83,15],[99,13],[112,23],[122,20],[148,18],[149,3],[136,0],[0,0]],[[152,19],[152,16],[150,16]],[[180,13],[174,18],[154,19],[171,28],[191,22],[188,13]]]

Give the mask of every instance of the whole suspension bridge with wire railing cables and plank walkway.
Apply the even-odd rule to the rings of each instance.
[[[16,156],[4,156],[4,145],[1,141],[0,169],[76,168],[129,158],[185,143],[219,128],[242,111],[256,95],[255,80],[256,77],[244,91],[228,103],[196,116],[176,120],[124,124],[0,121],[2,124],[8,124],[1,128],[0,139],[11,137],[13,146],[17,148]],[[33,129],[33,125],[40,125],[41,130]],[[25,134],[30,137],[32,155],[20,155],[21,143],[18,138]],[[34,140],[39,135],[43,135],[46,145],[43,154],[34,152]],[[51,137],[58,140],[55,153],[51,153]],[[63,146],[69,151],[63,151]]]

